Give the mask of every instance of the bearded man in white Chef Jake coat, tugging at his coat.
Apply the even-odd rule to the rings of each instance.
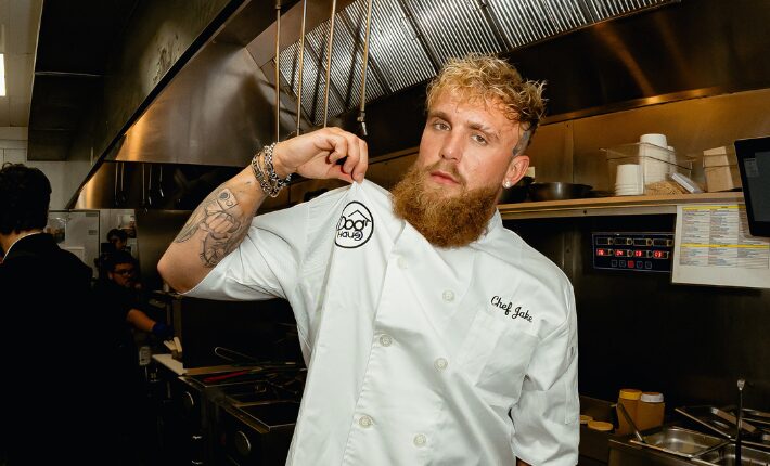
[[[493,56],[451,60],[393,193],[364,181],[363,141],[325,128],[262,148],[169,246],[177,290],[291,302],[308,377],[286,464],[577,464],[573,289],[496,209],[541,91]],[[351,185],[255,218],[295,172]]]

